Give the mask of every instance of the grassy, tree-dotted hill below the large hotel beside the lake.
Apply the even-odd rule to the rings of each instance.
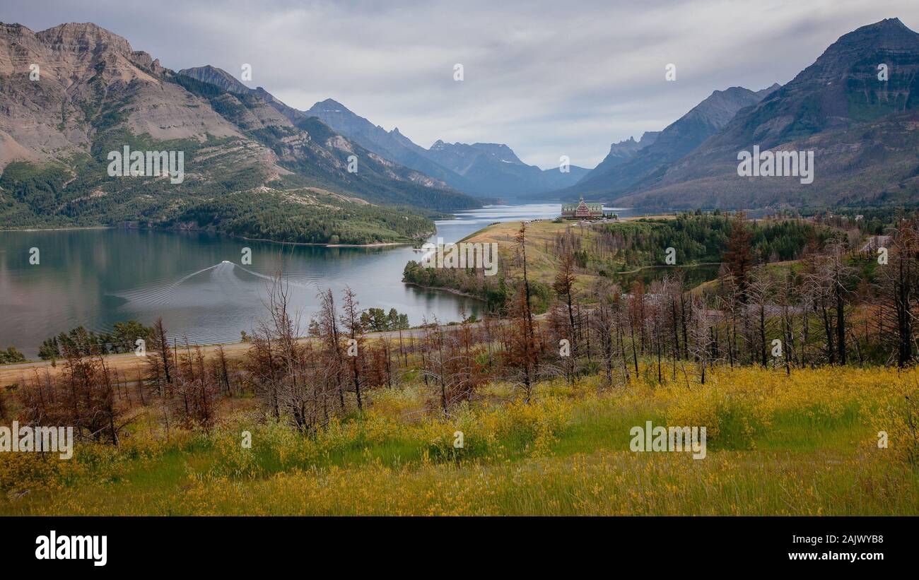
[[[515,284],[510,278],[520,273],[516,242],[520,226],[520,222],[494,224],[462,240],[498,244],[499,269],[492,277],[474,270],[425,269],[417,262],[409,262],[403,281],[448,287],[498,304]],[[692,286],[718,275],[731,227],[731,218],[720,212],[595,224],[561,220],[530,222],[526,231],[527,268],[537,295],[537,310],[548,303],[550,286],[568,251],[575,262],[574,288],[578,292],[590,288],[598,278],[608,278],[623,287],[636,281],[650,284],[675,267],[684,271],[686,284]],[[797,259],[808,243],[821,246],[835,235],[831,228],[801,219],[750,221],[747,229],[757,262]],[[668,248],[675,250],[673,265],[666,263]],[[587,300],[590,301],[590,296]]]

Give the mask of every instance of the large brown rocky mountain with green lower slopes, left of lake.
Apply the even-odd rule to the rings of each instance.
[[[184,179],[109,175],[108,155],[125,146],[181,152]],[[348,171],[352,156],[356,173]],[[271,231],[278,219],[271,217],[294,200],[296,211],[287,213],[300,220],[290,229],[299,233],[290,241],[336,236],[362,243],[405,240],[433,228],[421,209],[408,206],[430,213],[480,205],[264,89],[249,89],[214,67],[170,71],[91,23],[40,32],[0,24],[0,169],[5,227],[128,221],[229,230],[229,221],[182,219],[203,218],[196,207],[226,200],[237,209],[227,220],[245,222],[253,236],[278,239]],[[235,197],[248,205],[233,204]]]

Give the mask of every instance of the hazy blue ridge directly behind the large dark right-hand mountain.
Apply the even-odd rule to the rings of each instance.
[[[754,92],[741,86],[732,86],[724,91],[715,91],[686,115],[664,128],[647,146],[641,146],[629,154],[627,142],[627,147],[611,150],[607,159],[578,182],[573,190],[566,192],[565,196],[587,195],[611,199],[629,192],[665,171],[670,163],[696,149],[705,139],[727,125],[738,111],[755,105],[777,88],[776,84]]]

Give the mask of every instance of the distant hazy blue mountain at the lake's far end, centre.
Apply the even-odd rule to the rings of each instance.
[[[539,169],[520,161],[503,143],[446,143],[440,139],[427,150],[438,164],[459,173],[474,195],[495,195],[504,199],[533,198],[566,185],[577,183],[588,170],[571,165],[568,172],[559,168]]]

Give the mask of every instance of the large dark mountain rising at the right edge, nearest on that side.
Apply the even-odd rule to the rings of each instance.
[[[882,78],[879,65],[886,65]],[[812,151],[813,180],[742,177],[738,155]],[[666,207],[914,202],[919,34],[889,18],[845,34],[788,84],[619,202]]]

